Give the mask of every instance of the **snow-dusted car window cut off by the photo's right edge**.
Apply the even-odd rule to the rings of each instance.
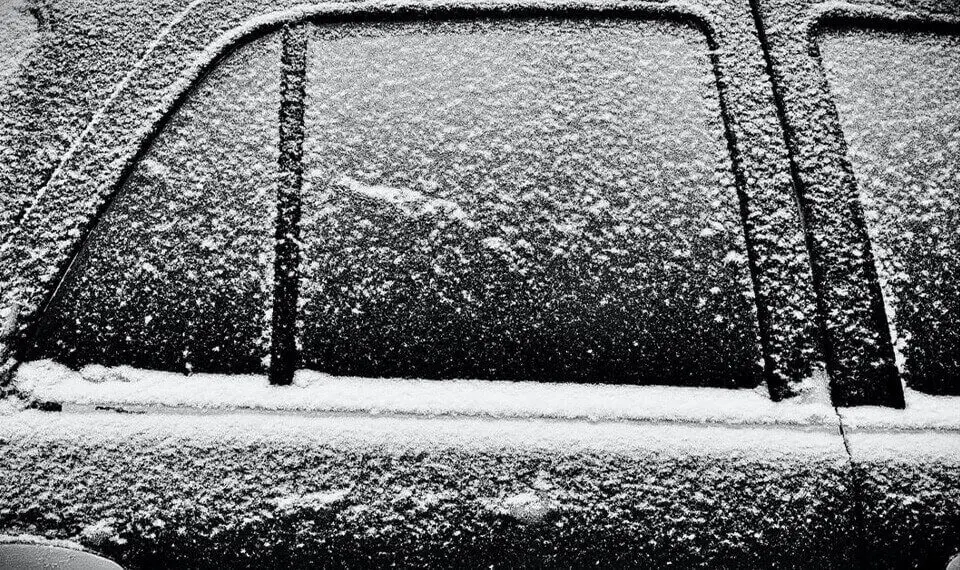
[[[960,393],[960,36],[819,40],[908,382]]]

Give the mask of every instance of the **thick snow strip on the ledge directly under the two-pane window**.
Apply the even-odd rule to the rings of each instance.
[[[776,403],[765,389],[544,384],[490,380],[415,380],[297,373],[291,387],[264,376],[193,374],[51,361],[20,366],[13,387],[24,398],[82,406],[286,412],[414,414],[590,421],[835,425],[822,375],[804,395]]]

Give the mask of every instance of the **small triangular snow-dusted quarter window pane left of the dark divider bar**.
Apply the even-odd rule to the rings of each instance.
[[[247,45],[177,110],[94,229],[34,357],[249,371],[267,354],[279,40]]]

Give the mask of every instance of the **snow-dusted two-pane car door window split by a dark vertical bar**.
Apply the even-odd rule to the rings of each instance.
[[[306,367],[755,386],[753,289],[704,33],[667,19],[311,27]],[[36,356],[263,369],[279,48],[229,56],[141,157]]]

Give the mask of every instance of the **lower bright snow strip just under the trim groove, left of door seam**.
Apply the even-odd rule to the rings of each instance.
[[[939,435],[939,434],[938,434]],[[586,450],[642,454],[651,461],[691,456],[736,458],[776,466],[786,459],[846,459],[836,426],[717,425],[676,422],[586,422],[539,418],[490,421],[476,417],[413,417],[227,412],[218,414],[120,414],[113,411],[62,413],[26,410],[3,416],[0,438],[14,449],[38,442],[76,449],[107,450],[118,445],[154,453],[170,449],[231,453],[237,446],[275,448],[281,453],[328,447],[350,450],[423,450],[457,454],[475,450],[536,450],[573,454]],[[510,452],[510,453],[512,453]],[[242,455],[242,454],[241,454]],[[335,497],[329,497],[335,498]]]

